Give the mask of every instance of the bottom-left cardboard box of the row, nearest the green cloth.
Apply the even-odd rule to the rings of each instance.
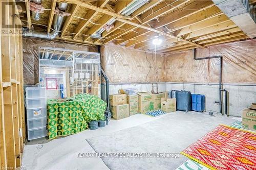
[[[110,107],[112,117],[116,120],[129,117],[129,105],[117,105],[117,106],[111,106]]]

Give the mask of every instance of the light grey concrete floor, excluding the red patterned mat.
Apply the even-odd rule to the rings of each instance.
[[[181,111],[168,113],[157,117],[137,114],[121,120],[111,120],[108,126],[99,128],[97,130],[86,130],[78,134],[59,137],[51,141],[42,138],[28,142],[25,145],[23,167],[26,167],[27,169],[109,169],[109,167],[111,169],[125,169],[125,167],[126,169],[130,169],[129,167],[133,169],[145,169],[141,167],[144,162],[148,164],[148,168],[146,169],[150,169],[151,167],[154,168],[155,165],[157,165],[156,162],[136,159],[136,164],[131,166],[129,162],[134,160],[132,158],[125,158],[126,161],[115,158],[103,158],[102,160],[101,158],[78,158],[77,154],[96,153],[96,151],[100,153],[113,153],[112,151],[116,146],[113,141],[116,141],[119,144],[119,147],[121,147],[120,149],[116,148],[116,152],[144,153],[144,151],[150,151],[152,153],[166,153],[164,152],[164,147],[159,149],[159,145],[155,145],[154,148],[154,145],[148,145],[148,143],[143,141],[147,140],[147,138],[142,135],[143,131],[140,131],[139,129],[141,129],[141,127],[146,128],[148,125],[154,124],[166,125],[168,122],[171,123],[172,128],[167,127],[167,129],[165,128],[159,130],[155,129],[153,126],[153,128],[149,131],[151,134],[155,134],[151,135],[153,140],[155,140],[154,136],[156,136],[163,145],[173,141],[177,141],[178,143],[181,142],[183,144],[182,148],[180,149],[183,150],[188,147],[189,144],[195,142],[218,124],[230,125],[232,122],[236,121],[236,119],[241,118],[225,117],[217,114],[216,117],[210,117],[206,113],[185,113]],[[180,125],[188,125],[192,122],[196,122],[197,124],[202,123],[203,126],[199,127],[200,132],[198,128],[195,129],[194,127],[186,128],[184,131],[182,127],[177,129],[174,126],[176,123]],[[184,135],[189,134],[191,137],[186,137],[186,139],[182,138],[181,140],[184,141],[179,141],[179,136],[182,136],[182,133],[184,133]],[[123,137],[122,134],[125,134],[125,137]],[[174,140],[174,138],[168,137],[169,134],[176,134],[176,139]],[[134,138],[134,135],[143,137],[136,139]],[[116,137],[122,137],[125,138],[125,140],[117,140]],[[102,142],[108,144],[101,144]],[[145,142],[145,144],[139,144],[141,142]],[[125,143],[130,143],[130,148],[125,147],[126,149],[123,150],[122,147],[125,146]],[[137,149],[131,149],[131,147],[134,148],[134,146]],[[147,147],[150,147],[151,149],[148,150]],[[172,147],[177,148],[175,145],[168,145],[168,153],[170,151],[180,151],[170,149]],[[163,160],[166,164],[166,159]],[[180,159],[175,159],[174,163],[169,164],[167,162],[166,165],[168,165],[168,167],[164,165],[162,167],[175,169],[177,165],[182,164],[185,160],[187,160],[187,158],[181,156]]]

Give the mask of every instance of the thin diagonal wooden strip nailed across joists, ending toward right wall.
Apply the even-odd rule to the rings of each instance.
[[[184,41],[184,42],[196,45],[196,46],[201,47],[201,48],[204,48],[202,45],[199,45],[197,43],[190,42],[190,41],[185,40],[183,38],[176,37],[174,35],[171,35],[171,34],[168,34],[168,33],[162,32],[162,31],[159,31],[157,29],[154,29],[154,28],[151,28],[151,27],[148,27],[148,26],[143,26],[143,25],[140,25],[138,23],[135,23],[135,22],[132,22],[132,21],[129,21],[129,20],[125,20],[125,19],[120,19],[120,18],[117,18],[117,20],[119,20],[121,22],[128,23],[130,25],[133,25],[133,26],[136,26],[136,27],[139,27],[139,28],[143,28],[143,29],[146,29],[146,30],[149,30],[149,31],[156,32],[156,33],[161,34],[161,35],[165,35],[165,36],[170,37],[170,38],[175,38],[177,40]]]

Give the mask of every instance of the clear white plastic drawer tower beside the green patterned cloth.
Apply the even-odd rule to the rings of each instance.
[[[25,91],[28,140],[45,137],[47,135],[46,88],[27,87]]]

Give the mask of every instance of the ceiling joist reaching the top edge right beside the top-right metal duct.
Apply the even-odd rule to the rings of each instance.
[[[160,27],[168,25],[169,23],[175,22],[189,15],[193,15],[199,11],[202,11],[206,8],[210,8],[212,6],[214,6],[214,3],[212,3],[212,1],[195,1],[185,6],[186,9],[190,9],[190,10],[186,10],[185,8],[182,8],[180,10],[177,10],[173,13],[168,14],[167,16],[159,18],[159,22],[157,22],[154,25],[154,28],[158,29]]]

